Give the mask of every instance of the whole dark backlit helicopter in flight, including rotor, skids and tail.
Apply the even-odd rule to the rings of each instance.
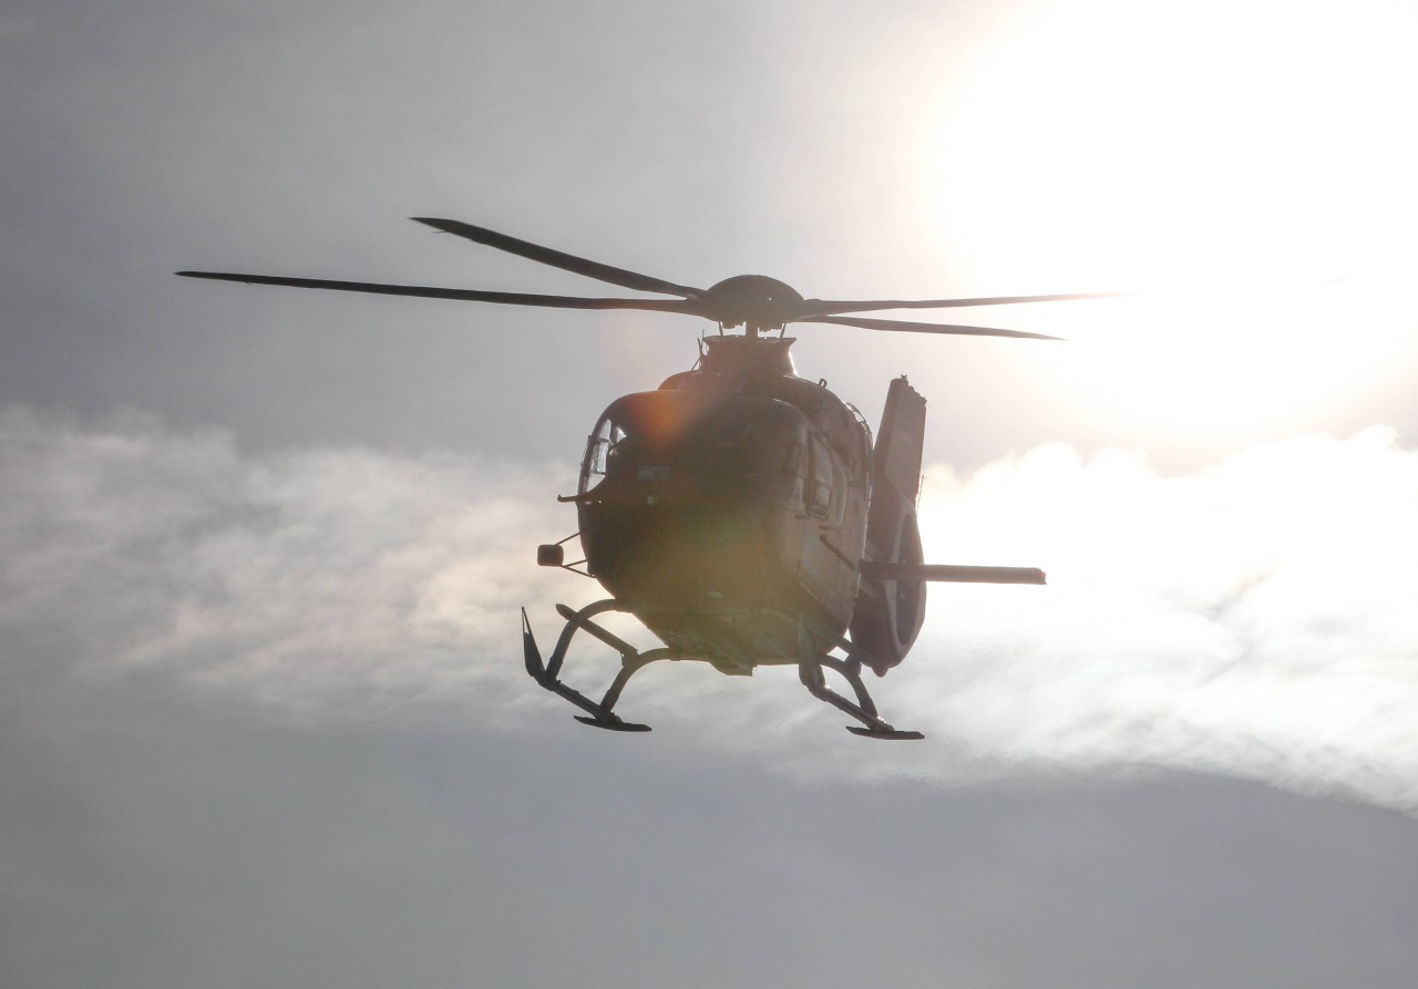
[[[593,577],[608,598],[573,611],[543,660],[522,611],[527,673],[586,711],[577,720],[615,731],[648,731],[615,711],[635,672],[657,660],[699,660],[747,676],[757,666],[797,666],[818,699],[852,716],[848,731],[871,738],[920,738],[883,721],[862,682],[906,657],[925,622],[926,582],[1044,584],[1025,567],[927,565],[916,500],[926,400],[905,377],[891,383],[876,442],[855,407],[825,383],[797,377],[783,334],[788,323],[866,330],[1056,340],[984,326],[866,319],[844,313],[1096,299],[1119,293],[981,299],[804,299],[763,275],[737,275],[708,289],[676,285],[563,254],[454,220],[415,217],[553,268],[672,299],[624,299],[484,292],[417,285],[183,271],[257,285],[373,292],[556,309],[641,309],[719,324],[700,340],[699,361],[655,391],[617,398],[591,431],[576,494],[579,531],[537,548],[537,563]],[[725,330],[743,327],[742,334]],[[764,336],[777,332],[777,336]],[[566,563],[580,536],[584,558]],[[596,618],[628,612],[665,645],[640,652]],[[560,680],[577,632],[617,650],[621,669],[600,700]],[[841,653],[841,656],[834,653]],[[841,674],[852,699],[827,684]]]

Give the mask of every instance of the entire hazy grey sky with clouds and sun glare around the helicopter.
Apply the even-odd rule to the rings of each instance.
[[[1378,0],[0,4],[0,983],[1412,985],[1415,43]],[[795,330],[873,422],[927,397],[927,558],[1049,585],[932,588],[872,683],[922,742],[783,670],[577,725],[519,608],[597,588],[533,547],[712,327],[172,276],[601,292],[413,215],[1136,290],[971,310],[1068,343]]]

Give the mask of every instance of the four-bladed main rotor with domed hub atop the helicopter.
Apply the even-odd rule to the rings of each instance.
[[[530,241],[499,234],[485,227],[474,227],[458,220],[414,217],[415,221],[445,234],[475,244],[515,254],[527,261],[560,268],[637,292],[679,296],[676,299],[583,298],[542,295],[535,292],[491,292],[484,289],[451,289],[428,285],[383,285],[379,282],[343,282],[322,278],[288,278],[281,275],[244,275],[237,272],[180,271],[186,278],[207,278],[247,285],[285,285],[301,289],[330,289],[336,292],[369,292],[373,295],[403,295],[423,299],[452,299],[458,302],[488,302],[508,306],[543,306],[550,309],[637,309],[645,312],[682,313],[710,319],[723,327],[743,326],[749,334],[783,329],[788,323],[828,323],[864,330],[893,333],[939,333],[951,336],[1021,337],[1029,340],[1059,340],[1044,333],[1004,330],[988,326],[922,323],[899,319],[844,316],[842,313],[875,312],[882,309],[947,309],[967,306],[1001,306],[1031,302],[1066,302],[1073,299],[1109,299],[1126,292],[1073,292],[1054,295],[1011,295],[973,299],[862,299],[832,300],[804,299],[791,286],[764,275],[736,275],[708,289],[666,282],[625,268],[554,251]]]

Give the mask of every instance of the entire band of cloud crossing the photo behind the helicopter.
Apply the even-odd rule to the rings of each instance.
[[[532,547],[574,527],[564,466],[359,448],[242,453],[125,412],[0,414],[6,667],[156,676],[301,723],[570,714],[520,669],[518,609],[596,597]],[[932,588],[872,682],[919,744],[841,731],[791,670],[652,667],[627,717],[803,778],[942,782],[1215,772],[1418,812],[1418,453],[1373,428],[1163,476],[1045,446],[922,499],[940,563],[1042,565],[1046,588]],[[593,690],[611,655],[577,653]],[[655,744],[655,742],[649,742]]]

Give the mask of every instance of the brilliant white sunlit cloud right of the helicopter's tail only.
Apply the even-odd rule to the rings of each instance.
[[[933,588],[912,656],[932,672],[902,700],[977,758],[1418,809],[1418,453],[1392,431],[1295,436],[1180,477],[1046,446],[936,470],[925,514],[937,553],[993,547],[1051,578]]]

